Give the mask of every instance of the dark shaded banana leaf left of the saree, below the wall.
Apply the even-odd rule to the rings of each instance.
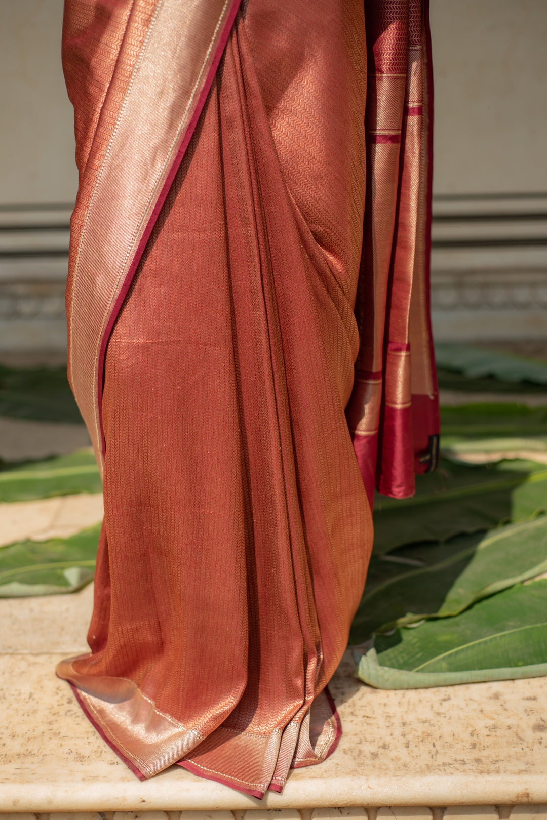
[[[0,416],[83,424],[66,367],[0,366]]]

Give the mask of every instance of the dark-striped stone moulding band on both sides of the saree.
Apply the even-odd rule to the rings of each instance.
[[[66,347],[70,214],[0,207],[0,353]],[[437,339],[545,339],[547,194],[435,197],[431,271]]]

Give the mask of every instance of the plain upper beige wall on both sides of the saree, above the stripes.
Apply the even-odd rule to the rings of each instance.
[[[0,204],[74,199],[61,26],[62,0],[0,0]],[[547,0],[431,0],[431,26],[435,191],[547,190]]]

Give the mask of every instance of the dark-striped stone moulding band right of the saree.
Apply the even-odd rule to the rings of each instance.
[[[547,194],[436,197],[431,307],[440,341],[545,339]]]

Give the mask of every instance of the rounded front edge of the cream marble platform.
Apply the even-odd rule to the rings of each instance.
[[[261,801],[212,781],[161,775],[144,783],[7,782],[0,771],[0,812],[175,811],[218,809],[321,809],[330,806],[456,806],[547,803],[545,775],[329,777],[299,781]]]

